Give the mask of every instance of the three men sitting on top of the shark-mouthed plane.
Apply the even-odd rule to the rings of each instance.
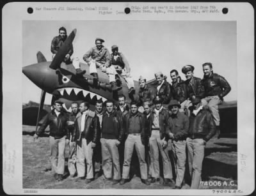
[[[52,52],[52,59],[63,45],[64,41],[67,39],[67,30],[65,27],[60,27],[59,35],[55,36],[51,42],[51,52]],[[86,54],[83,56],[83,60],[89,65],[90,75],[93,76],[93,83],[97,84],[98,80],[98,72],[97,68],[99,68],[102,72],[108,74],[109,83],[111,84],[111,89],[113,91],[118,91],[122,89],[121,87],[121,80],[118,74],[124,77],[125,81],[127,82],[127,86],[129,87],[129,93],[134,94],[134,82],[130,75],[131,69],[127,59],[125,58],[122,52],[118,52],[118,46],[113,45],[111,47],[112,53],[109,53],[109,50],[102,45],[104,40],[102,38],[95,39],[95,47],[92,47]],[[82,76],[86,71],[81,70],[79,64],[79,58],[71,56],[73,54],[73,46],[70,46],[70,50],[65,56],[63,61],[66,64],[73,64],[74,68],[76,69],[77,76]]]

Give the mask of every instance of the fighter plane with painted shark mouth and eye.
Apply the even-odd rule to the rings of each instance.
[[[63,107],[67,111],[71,111],[72,102],[89,102],[95,105],[97,100],[102,99],[117,101],[118,94],[124,94],[127,98],[127,103],[131,103],[132,97],[129,95],[129,89],[124,77],[120,75],[122,89],[119,91],[112,91],[111,84],[109,84],[109,77],[106,73],[98,70],[99,80],[95,84],[93,76],[90,75],[89,66],[86,63],[80,63],[81,70],[85,70],[83,77],[76,75],[76,70],[72,64],[63,63],[63,59],[71,47],[72,41],[76,36],[76,29],[69,34],[61,46],[58,53],[54,56],[52,61],[47,61],[41,52],[36,54],[38,63],[31,64],[22,68],[22,72],[28,77],[36,86],[42,89],[40,98],[40,106],[36,119],[36,126],[44,116],[42,115],[45,93],[52,94],[52,103],[60,99],[63,102]],[[150,80],[147,84],[152,84],[154,80]],[[134,81],[134,88],[136,93],[132,96],[136,97],[138,89],[140,88],[139,82]],[[237,133],[237,103],[224,102],[220,107],[221,135],[223,133]],[[34,114],[36,115],[36,114]],[[23,113],[23,118],[27,115]],[[31,116],[31,115],[29,115]],[[230,135],[230,134],[228,134]]]

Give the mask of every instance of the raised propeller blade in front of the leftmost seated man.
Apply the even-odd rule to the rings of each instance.
[[[52,63],[50,65],[50,68],[56,70],[57,68],[60,68],[60,64],[65,59],[65,56],[68,54],[68,51],[70,50],[72,46],[72,41],[74,40],[76,36],[76,29],[74,29],[67,37],[67,39],[64,41],[63,45],[61,45],[60,49],[58,50],[57,54],[52,59]]]

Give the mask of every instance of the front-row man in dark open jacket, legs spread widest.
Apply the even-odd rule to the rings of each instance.
[[[150,185],[147,178],[147,163],[145,161],[145,146],[147,143],[147,133],[145,132],[145,116],[138,112],[138,103],[131,103],[131,112],[124,117],[124,128],[127,139],[124,147],[124,165],[123,174],[120,185],[124,185],[129,181],[129,172],[134,147],[140,162],[141,181],[146,185]]]

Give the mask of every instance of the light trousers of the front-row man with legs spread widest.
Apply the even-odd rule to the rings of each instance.
[[[122,178],[129,179],[129,172],[130,172],[131,159],[132,159],[134,146],[140,162],[141,179],[147,179],[148,175],[147,175],[147,163],[145,161],[145,146],[141,142],[140,134],[138,135],[129,134],[127,139],[125,140],[124,165],[123,165]]]

